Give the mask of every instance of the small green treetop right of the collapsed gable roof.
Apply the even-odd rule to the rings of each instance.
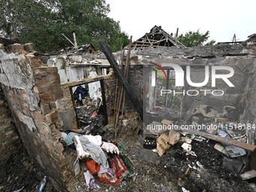
[[[209,38],[209,31],[207,31],[205,34],[200,33],[199,29],[197,32],[186,32],[185,35],[181,34],[178,36],[178,41],[181,42],[181,44],[184,44],[187,47],[195,47],[197,45],[203,44],[206,42]],[[206,46],[210,46],[215,44],[215,40],[209,41],[206,43]]]

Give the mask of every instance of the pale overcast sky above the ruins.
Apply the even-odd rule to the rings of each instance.
[[[210,32],[208,41],[245,41],[256,33],[256,0],[105,0],[108,17],[120,21],[123,32],[141,38],[155,26],[178,35]]]

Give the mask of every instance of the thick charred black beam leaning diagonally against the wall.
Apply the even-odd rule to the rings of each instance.
[[[130,87],[130,84],[128,83],[126,78],[123,76],[119,67],[117,66],[117,61],[114,59],[114,55],[111,52],[110,48],[108,47],[108,44],[106,44],[106,42],[104,40],[101,40],[101,41],[99,41],[99,45],[102,48],[102,52],[107,57],[108,62],[110,63],[111,67],[114,69],[114,72],[117,75],[117,78],[120,80],[120,84],[122,84],[123,88],[126,90],[126,93],[128,94],[131,101],[133,102],[133,105],[135,106],[136,111],[138,111],[139,116],[143,120],[142,105],[139,102],[139,100],[136,98],[136,95],[133,93],[133,89]]]

